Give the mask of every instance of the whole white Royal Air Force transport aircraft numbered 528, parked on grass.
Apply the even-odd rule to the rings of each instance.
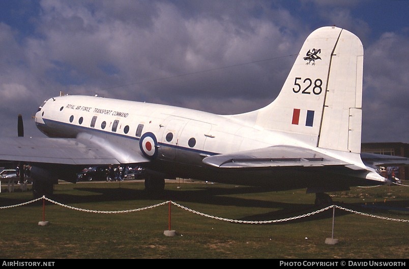
[[[60,94],[35,115],[47,138],[2,138],[0,159],[32,164],[35,195],[52,192],[57,179],[75,182],[84,166],[138,164],[150,192],[179,177],[307,188],[317,204],[328,202],[324,192],[390,183],[378,165],[409,163],[361,154],[363,55],[353,33],[319,28],[274,102],[238,115]]]

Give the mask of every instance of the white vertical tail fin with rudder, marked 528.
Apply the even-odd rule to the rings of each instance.
[[[306,39],[277,98],[250,115],[257,126],[311,146],[360,153],[362,74],[359,38],[335,26],[318,28]]]

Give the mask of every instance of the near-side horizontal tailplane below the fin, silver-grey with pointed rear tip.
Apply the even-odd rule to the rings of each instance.
[[[350,163],[337,158],[295,146],[272,146],[257,150],[214,155],[204,158],[203,162],[222,168],[350,165]]]

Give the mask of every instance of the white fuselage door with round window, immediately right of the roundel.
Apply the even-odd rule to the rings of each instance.
[[[179,143],[179,135],[182,127],[185,125],[182,119],[171,119],[165,126],[162,134],[160,155],[164,158],[174,159],[176,148]]]

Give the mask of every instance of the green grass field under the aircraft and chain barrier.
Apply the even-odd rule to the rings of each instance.
[[[407,182],[403,184],[408,185]],[[353,188],[330,193],[334,204],[370,214],[335,210],[336,245],[332,237],[332,209],[304,218],[270,224],[233,223],[215,217],[268,221],[319,210],[314,194],[305,189],[267,191],[259,188],[205,183],[167,183],[165,196],[148,199],[143,182],[59,184],[53,200],[97,211],[141,209],[172,200],[195,214],[171,205],[140,211],[104,214],[77,211],[42,201],[0,209],[0,258],[407,258],[409,253],[409,190],[405,186]],[[31,201],[30,191],[0,193],[0,207]],[[366,204],[367,207],[363,207]],[[371,208],[384,206],[388,209]],[[403,208],[406,209],[402,210]],[[305,239],[307,238],[307,240]]]

